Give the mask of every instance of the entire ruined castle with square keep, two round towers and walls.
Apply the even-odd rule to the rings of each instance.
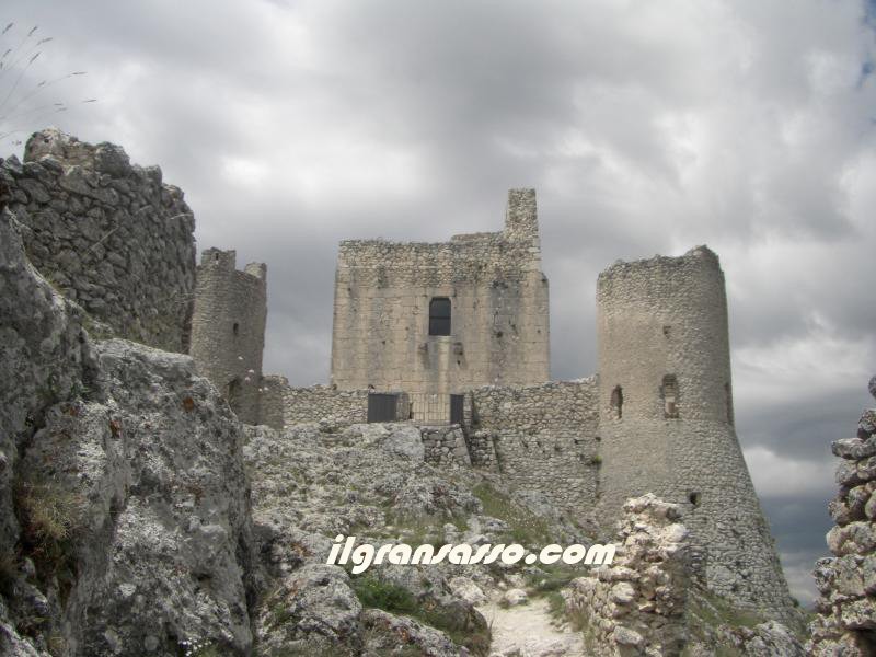
[[[428,460],[488,470],[603,535],[625,499],[654,493],[684,509],[712,590],[791,613],[734,429],[724,275],[707,247],[602,272],[599,371],[551,381],[534,191],[509,192],[500,232],[342,242],[332,379],[293,388],[262,372],[265,265],[239,270],[216,249],[196,265],[192,212],[158,168],[46,130],[0,181],[32,262],[92,330],[191,354],[242,420],[430,425]]]

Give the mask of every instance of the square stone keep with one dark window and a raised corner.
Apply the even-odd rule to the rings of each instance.
[[[511,191],[506,230],[450,242],[341,243],[332,381],[342,389],[460,393],[549,376],[548,279],[532,189]],[[451,335],[428,335],[429,302]]]

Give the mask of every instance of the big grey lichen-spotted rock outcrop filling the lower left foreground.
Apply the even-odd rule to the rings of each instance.
[[[8,211],[0,250],[0,653],[247,654],[239,420],[187,356],[90,339]]]

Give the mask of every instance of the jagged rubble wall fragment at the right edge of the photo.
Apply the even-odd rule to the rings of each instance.
[[[869,391],[876,396],[876,377]],[[834,556],[819,560],[815,570],[820,595],[807,648],[817,657],[876,655],[876,408],[864,412],[855,438],[831,447],[842,459],[840,491],[829,505]]]

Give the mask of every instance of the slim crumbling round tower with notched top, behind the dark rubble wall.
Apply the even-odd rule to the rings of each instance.
[[[234,251],[208,249],[197,268],[189,354],[242,422],[257,424],[267,320],[267,267],[235,268]]]

